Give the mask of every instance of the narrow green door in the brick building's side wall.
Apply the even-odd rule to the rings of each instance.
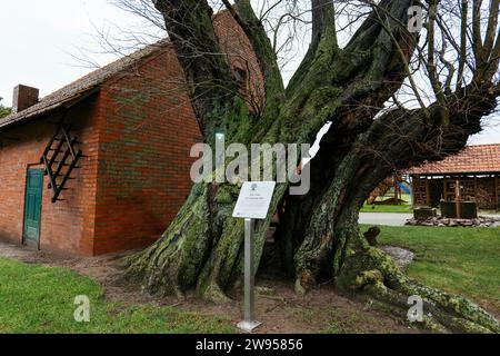
[[[24,201],[24,243],[34,243],[38,245],[40,239],[42,188],[43,170],[29,169]]]

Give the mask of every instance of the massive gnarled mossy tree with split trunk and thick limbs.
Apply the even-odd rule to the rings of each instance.
[[[499,95],[491,70],[453,93],[437,96],[437,102],[427,108],[400,107],[380,115],[408,77],[408,61],[418,44],[404,26],[413,1],[373,4],[340,49],[331,0],[312,0],[311,44],[287,89],[250,1],[237,1],[237,7],[224,3],[247,33],[263,73],[266,106],[260,112],[246,109],[232,83],[207,2],[156,1],[192,83],[206,142],[213,145],[217,128],[223,127],[228,144],[312,144],[321,127],[332,122],[310,162],[310,191],[289,196],[288,185],[278,185],[268,218],[257,222],[257,260],[271,217],[284,206],[278,231],[280,254],[298,293],[332,280],[339,288],[363,291],[399,312],[408,308],[406,297],[417,294],[432,310],[432,317],[426,317],[430,328],[499,332],[498,322],[472,303],[410,280],[388,256],[370,247],[358,229],[364,199],[391,171],[458,152],[469,135],[480,130],[481,118],[494,109]],[[481,50],[492,53],[497,46],[486,43]],[[194,185],[162,238],[129,260],[129,274],[139,277],[150,293],[182,296],[196,289],[207,299],[227,300],[242,275],[243,222],[231,218],[238,194],[239,186],[229,182]]]

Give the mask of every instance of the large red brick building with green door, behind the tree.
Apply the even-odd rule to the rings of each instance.
[[[251,102],[261,76],[228,12],[216,31]],[[160,41],[38,100],[14,89],[0,119],[0,239],[74,255],[147,246],[190,191],[201,134],[183,72]]]

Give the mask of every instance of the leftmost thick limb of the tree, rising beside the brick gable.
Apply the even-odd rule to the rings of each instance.
[[[234,96],[237,86],[222,53],[206,0],[153,0],[164,18],[179,62],[191,85],[200,129],[211,138],[223,118],[213,112]]]

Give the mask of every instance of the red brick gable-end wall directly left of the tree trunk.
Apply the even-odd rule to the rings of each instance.
[[[101,90],[94,254],[150,245],[191,188],[201,140],[170,49]]]

